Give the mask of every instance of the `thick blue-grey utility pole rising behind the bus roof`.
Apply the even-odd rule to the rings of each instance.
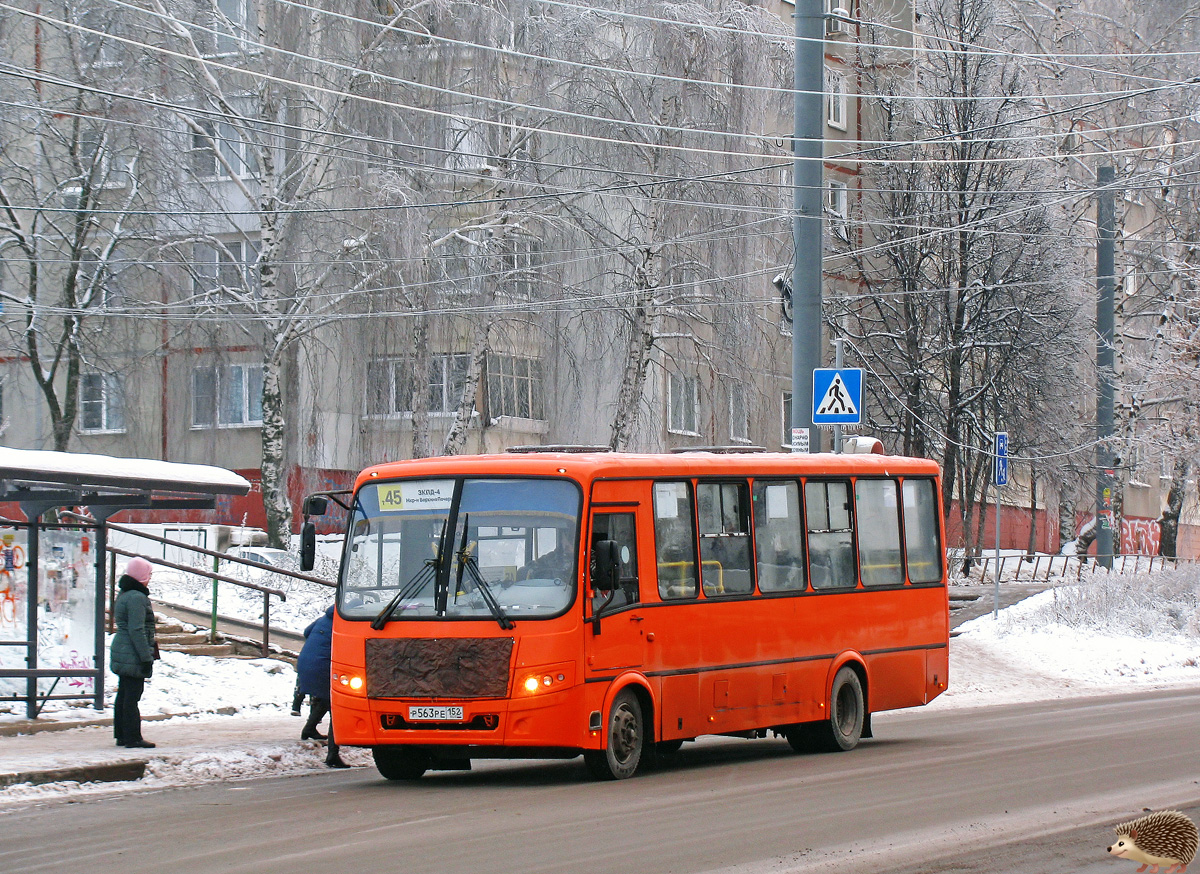
[[[824,160],[824,4],[796,0],[792,139],[792,451],[821,451],[812,371],[821,366],[821,226]],[[808,441],[802,431],[808,431]]]

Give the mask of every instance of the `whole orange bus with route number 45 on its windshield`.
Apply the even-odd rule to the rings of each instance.
[[[935,462],[534,449],[355,481],[332,730],[384,777],[582,754],[622,779],[702,735],[845,750],[946,689]]]

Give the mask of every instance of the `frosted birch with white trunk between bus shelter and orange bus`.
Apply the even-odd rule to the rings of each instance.
[[[146,0],[148,31],[178,59],[180,138],[191,145],[192,179],[204,182],[180,197],[191,212],[227,216],[180,227],[176,251],[190,261],[190,247],[206,245],[218,265],[238,268],[194,303],[239,317],[233,330],[260,348],[263,503],[280,545],[292,526],[289,361],[301,339],[390,271],[377,256],[394,227],[352,209],[368,204],[354,192],[364,150],[349,119],[388,40],[380,25],[407,16],[376,13],[374,26],[344,28],[323,11],[308,16],[257,0],[199,11],[182,0]]]

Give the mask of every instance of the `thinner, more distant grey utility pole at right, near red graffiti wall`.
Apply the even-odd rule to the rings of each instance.
[[[1112,569],[1112,385],[1116,293],[1116,175],[1096,172],[1096,561]]]

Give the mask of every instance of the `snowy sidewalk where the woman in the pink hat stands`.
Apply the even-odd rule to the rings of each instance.
[[[300,741],[304,720],[277,707],[248,713],[148,716],[143,736],[155,749],[113,740],[112,714],[0,726],[0,791],[18,784],[110,783],[154,778],[158,785],[300,773],[323,768],[325,747]],[[358,762],[356,759],[352,764]]]

